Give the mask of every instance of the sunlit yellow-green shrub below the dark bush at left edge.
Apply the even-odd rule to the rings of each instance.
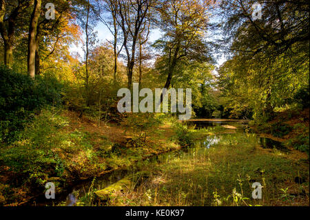
[[[68,145],[68,137],[58,132],[65,126],[63,117],[44,110],[25,127],[19,141],[1,151],[0,161],[25,181],[43,184],[49,176],[61,177],[63,162],[52,148]]]

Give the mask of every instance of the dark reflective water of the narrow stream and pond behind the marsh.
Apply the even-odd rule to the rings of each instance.
[[[189,121],[187,122],[189,126],[196,126],[195,129],[201,128],[216,128],[216,126],[233,126],[234,129],[224,129],[220,134],[207,135],[205,138],[200,139],[194,143],[194,146],[182,148],[181,150],[168,152],[165,154],[156,155],[152,158],[147,159],[149,163],[167,163],[172,158],[177,157],[185,157],[186,154],[192,154],[193,152],[199,152],[198,148],[213,148],[216,144],[221,143],[223,141],[231,141],[236,137],[236,141],[243,139],[243,141],[247,141],[247,139],[255,139],[259,146],[262,148],[269,148],[289,152],[282,143],[278,141],[273,141],[272,139],[268,139],[265,137],[258,137],[256,134],[248,135],[245,132],[245,128],[247,125],[242,123],[241,121]],[[229,137],[229,138],[228,138]],[[252,140],[253,141],[253,140]],[[197,150],[197,151],[196,151]],[[93,180],[85,180],[80,181],[79,183],[75,183],[74,186],[69,186],[63,194],[58,195],[58,198],[51,200],[45,199],[45,197],[37,197],[28,205],[33,206],[74,206],[76,202],[80,199],[85,199],[87,197],[87,193],[94,190],[101,190],[110,186],[112,183],[116,183],[117,181],[123,179],[123,177],[134,174],[138,172],[138,170],[143,170],[143,167],[131,166],[127,168],[121,168],[119,170],[115,170],[113,172],[104,174],[102,177],[97,177]]]

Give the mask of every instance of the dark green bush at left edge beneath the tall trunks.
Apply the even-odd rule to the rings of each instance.
[[[43,106],[60,104],[62,88],[53,77],[32,80],[0,66],[0,142],[16,140],[23,125]]]

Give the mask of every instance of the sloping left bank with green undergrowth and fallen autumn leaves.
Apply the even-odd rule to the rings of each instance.
[[[161,119],[156,121],[159,126]],[[165,126],[165,122],[162,124]],[[144,120],[145,125],[147,137],[127,127],[99,128],[89,119],[77,121],[65,110],[43,110],[26,126],[19,140],[0,149],[0,204],[19,205],[44,192],[45,183],[51,179],[56,191],[61,192],[72,181],[96,177],[180,148],[163,135],[168,127],[153,134],[156,128]],[[114,142],[115,136],[118,142]],[[158,141],[158,137],[162,140]]]

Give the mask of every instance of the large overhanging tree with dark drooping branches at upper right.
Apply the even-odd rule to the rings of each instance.
[[[220,82],[234,98],[235,109],[247,106],[256,119],[269,120],[300,86],[309,85],[309,1],[265,1],[262,19],[255,21],[253,4],[238,0],[220,5],[227,34],[220,43],[231,57],[220,69]]]

